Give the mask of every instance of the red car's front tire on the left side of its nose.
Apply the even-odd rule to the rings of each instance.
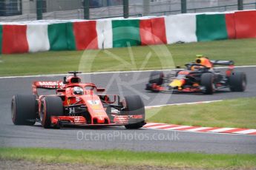
[[[47,96],[42,99],[40,109],[41,124],[45,129],[51,127],[51,116],[64,115],[62,99],[58,96]]]

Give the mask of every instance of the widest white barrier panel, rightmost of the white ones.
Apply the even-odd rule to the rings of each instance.
[[[179,41],[196,42],[196,14],[181,14],[165,17],[167,44]]]

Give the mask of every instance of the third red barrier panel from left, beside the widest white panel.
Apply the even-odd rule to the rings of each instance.
[[[151,18],[140,20],[140,39],[142,45],[167,44],[165,19]]]

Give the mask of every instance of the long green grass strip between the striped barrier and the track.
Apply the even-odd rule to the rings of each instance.
[[[134,54],[134,63],[131,62],[128,48],[88,50],[87,52],[96,53],[96,58],[93,60],[93,57],[89,57],[87,63],[93,62],[93,67],[85,68],[83,71],[137,70],[142,66],[148,53],[151,53],[148,55],[151,57],[142,69],[170,69],[160,62],[162,60],[165,64],[164,58],[172,62],[171,56],[165,53],[166,50],[171,52],[175,65],[183,66],[183,64],[194,61],[196,54],[203,54],[212,59],[233,60],[236,65],[256,65],[255,44],[256,38],[250,38],[166,46],[131,47],[131,51]],[[116,58],[111,58],[109,53],[117,55],[127,62],[117,61]],[[0,76],[53,74],[78,70],[82,54],[83,51],[51,51],[1,55]]]

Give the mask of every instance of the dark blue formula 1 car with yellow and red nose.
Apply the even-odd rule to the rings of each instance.
[[[214,69],[214,65],[229,66],[226,73]],[[209,60],[198,56],[195,62],[185,64],[186,69],[164,75],[163,71],[151,72],[146,90],[152,92],[203,92],[213,94],[217,89],[229,88],[232,92],[246,89],[246,74],[234,71],[233,61]]]

